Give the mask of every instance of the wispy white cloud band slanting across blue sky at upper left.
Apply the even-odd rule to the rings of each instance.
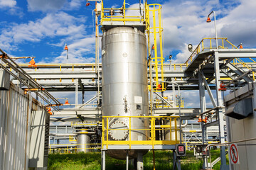
[[[68,13],[48,13],[44,18],[16,24],[1,30],[1,48],[15,50],[21,42],[40,42],[56,36],[82,37],[85,34],[85,18],[75,18]]]

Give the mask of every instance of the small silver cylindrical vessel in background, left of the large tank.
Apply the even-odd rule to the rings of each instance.
[[[77,151],[78,152],[90,152],[90,136],[82,133],[87,132],[87,130],[81,130],[81,133],[78,134],[77,140]]]

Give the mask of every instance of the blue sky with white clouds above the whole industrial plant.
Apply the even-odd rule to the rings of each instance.
[[[105,6],[122,6],[122,1],[105,0]],[[128,1],[131,7],[139,1]],[[0,0],[0,48],[11,56],[36,56],[36,62],[65,63],[65,43],[69,62],[95,61],[95,29],[91,6],[84,0]],[[134,4],[135,3],[135,4]],[[233,44],[256,47],[256,2],[247,1],[149,1],[163,5],[164,52],[174,62],[185,62],[186,45],[194,47],[204,37],[214,36],[214,26],[206,23],[210,11],[217,13],[218,35]]]

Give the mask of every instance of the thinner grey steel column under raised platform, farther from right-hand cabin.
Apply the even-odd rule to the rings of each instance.
[[[200,108],[201,108],[201,113],[206,111],[206,91],[205,91],[205,84],[203,81],[203,77],[201,72],[198,72],[198,81],[199,81],[199,96],[200,96]],[[203,118],[202,118],[203,119]],[[206,144],[206,127],[203,123],[201,122],[201,127],[202,127],[202,144]],[[203,148],[204,149],[204,148]],[[206,169],[207,166],[207,156],[203,155],[203,169]]]

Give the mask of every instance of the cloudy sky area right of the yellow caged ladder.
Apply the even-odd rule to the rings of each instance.
[[[180,50],[174,62],[190,56],[186,45],[194,47],[206,37],[215,37],[214,22],[206,23],[213,9],[217,15],[218,37],[227,37],[234,45],[243,42],[255,47],[256,3],[250,1],[169,1],[163,5],[164,47],[166,54]],[[213,15],[211,16],[213,21]]]

